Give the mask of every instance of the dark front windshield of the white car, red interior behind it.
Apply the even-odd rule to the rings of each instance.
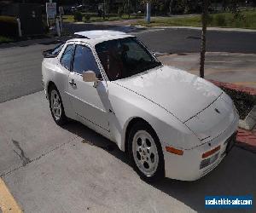
[[[161,65],[135,37],[98,43],[96,52],[111,81],[127,78]]]

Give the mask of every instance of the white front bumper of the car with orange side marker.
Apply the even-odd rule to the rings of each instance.
[[[172,153],[167,153],[166,149],[163,148],[165,157],[165,169],[166,177],[177,179],[181,181],[195,181],[202,176],[207,175],[211,170],[213,170],[225,157],[226,148],[228,145],[229,138],[236,132],[239,117],[236,114],[232,124],[225,130],[221,135],[206,143],[193,147],[189,150],[184,150],[183,155],[176,155]],[[202,154],[220,145],[218,150],[218,156],[216,156],[212,164],[207,165],[201,169]],[[215,154],[212,154],[214,156]],[[210,156],[209,158],[211,158]]]

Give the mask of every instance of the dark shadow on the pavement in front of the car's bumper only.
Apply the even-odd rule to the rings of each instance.
[[[200,180],[173,181],[166,178],[152,186],[201,212],[206,211],[204,200],[207,195],[253,195],[255,198],[255,168],[256,155],[234,147],[215,170]]]

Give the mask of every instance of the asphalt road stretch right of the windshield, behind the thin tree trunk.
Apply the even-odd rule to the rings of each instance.
[[[165,29],[138,35],[150,49],[161,53],[200,52],[201,31]],[[256,53],[256,32],[207,32],[208,52]]]

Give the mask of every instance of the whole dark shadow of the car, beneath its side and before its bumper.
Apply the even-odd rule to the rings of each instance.
[[[65,125],[64,129],[79,135],[84,139],[82,142],[100,147],[130,165],[128,157],[119,150],[119,147],[83,124],[72,121]],[[206,211],[204,201],[207,195],[253,195],[253,198],[256,198],[255,168],[255,153],[234,147],[215,170],[200,180],[176,181],[165,178],[150,185],[183,202],[193,210],[201,212]],[[217,212],[218,210],[213,211]],[[234,210],[228,211],[233,212]]]

